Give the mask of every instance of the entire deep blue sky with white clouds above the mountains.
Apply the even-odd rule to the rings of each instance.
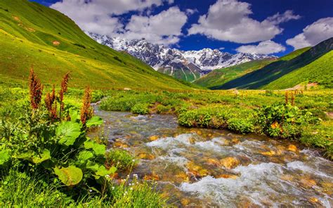
[[[333,0],[32,0],[82,30],[184,51],[284,56],[333,37]]]

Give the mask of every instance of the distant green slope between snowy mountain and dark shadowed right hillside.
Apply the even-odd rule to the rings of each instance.
[[[254,70],[259,70],[260,68],[272,63],[273,61],[275,60],[252,60],[240,65],[214,70],[209,72],[209,74],[204,75],[200,79],[195,80],[194,83],[208,88],[220,86],[221,84],[225,84],[226,82],[229,82],[230,80],[233,80],[237,77],[241,77],[244,74],[253,72]]]

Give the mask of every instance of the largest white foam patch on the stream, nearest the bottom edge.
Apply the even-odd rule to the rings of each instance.
[[[249,164],[249,166],[236,167],[233,171],[240,173],[239,178],[214,178],[205,176],[196,183],[182,183],[180,189],[186,192],[199,195],[201,199],[213,197],[222,206],[230,206],[237,203],[240,197],[246,195],[254,204],[264,206],[266,201],[279,201],[288,198],[289,195],[296,195],[301,200],[302,191],[292,184],[283,183],[278,176],[284,173],[285,167],[275,163]],[[282,193],[287,190],[287,194]],[[292,193],[292,194],[290,194]],[[322,204],[329,204],[325,197],[318,196]],[[330,199],[330,198],[329,198]],[[283,202],[280,202],[283,204]],[[286,202],[286,204],[297,204]],[[274,207],[281,205],[273,204]]]

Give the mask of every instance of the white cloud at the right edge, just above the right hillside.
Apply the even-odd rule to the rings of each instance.
[[[287,39],[287,44],[295,49],[315,46],[321,41],[333,37],[333,18],[322,18],[306,26],[301,34],[292,39]]]

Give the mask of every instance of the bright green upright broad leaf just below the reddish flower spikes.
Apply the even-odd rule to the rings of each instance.
[[[55,134],[60,137],[60,144],[73,145],[75,140],[81,134],[81,124],[75,122],[62,122],[57,129]]]

